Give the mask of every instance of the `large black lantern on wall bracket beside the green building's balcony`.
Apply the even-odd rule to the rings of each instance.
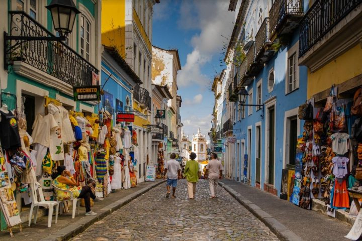
[[[53,0],[45,8],[50,11],[54,29],[59,33],[59,36],[66,37],[72,32],[75,17],[80,13],[73,0]]]

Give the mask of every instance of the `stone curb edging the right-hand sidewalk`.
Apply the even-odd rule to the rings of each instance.
[[[243,205],[247,210],[259,218],[265,225],[272,230],[278,238],[281,240],[292,240],[292,241],[302,241],[303,239],[289,230],[286,226],[280,223],[272,215],[263,211],[260,207],[252,203],[250,200],[244,198],[241,194],[236,192],[234,189],[225,185],[223,182],[219,182],[219,185],[223,187],[231,196],[233,196],[241,205]]]

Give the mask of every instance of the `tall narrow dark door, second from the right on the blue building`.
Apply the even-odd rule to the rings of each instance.
[[[268,119],[269,145],[268,145],[268,183],[274,185],[274,150],[275,150],[275,109],[269,109]]]

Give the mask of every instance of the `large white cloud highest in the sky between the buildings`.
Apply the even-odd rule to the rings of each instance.
[[[178,72],[179,86],[206,85],[209,77],[201,69],[219,54],[223,36],[231,33],[234,14],[228,11],[228,0],[184,0],[180,5],[178,26],[183,29],[199,29],[191,39],[193,51],[187,55],[182,70]]]

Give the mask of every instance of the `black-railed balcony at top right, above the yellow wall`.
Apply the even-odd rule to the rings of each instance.
[[[300,22],[299,63],[313,72],[358,44],[361,4],[362,0],[317,0]]]

